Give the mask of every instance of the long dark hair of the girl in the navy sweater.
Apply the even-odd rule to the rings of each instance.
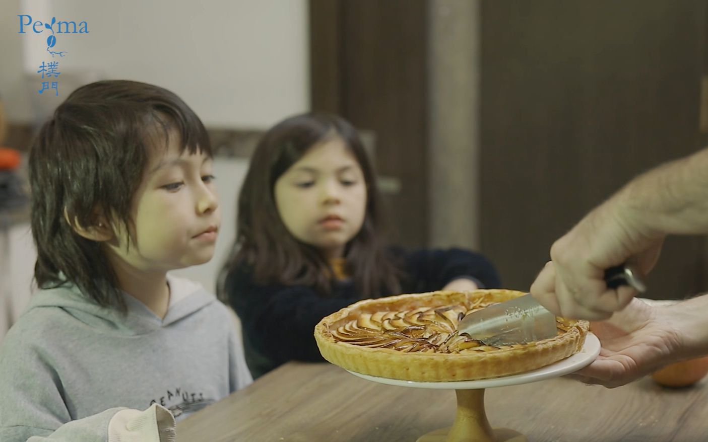
[[[331,293],[329,264],[314,246],[299,242],[287,231],[273,188],[308,149],[335,136],[353,153],[367,186],[364,223],[345,252],[347,269],[361,298],[378,297],[384,289],[398,293],[400,272],[384,248],[381,197],[361,139],[341,117],[323,113],[287,118],[259,141],[239,194],[236,241],[224,271],[247,265],[258,284],[303,285],[323,295]],[[219,296],[224,298],[225,293]]]

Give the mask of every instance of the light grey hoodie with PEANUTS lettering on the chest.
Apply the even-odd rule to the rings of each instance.
[[[198,284],[168,281],[164,319],[125,293],[125,317],[75,287],[36,293],[0,347],[0,441],[114,407],[157,403],[179,420],[250,383],[227,308]]]

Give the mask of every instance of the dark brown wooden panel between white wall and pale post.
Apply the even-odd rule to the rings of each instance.
[[[392,240],[428,243],[427,1],[310,0],[312,108],[375,134]]]

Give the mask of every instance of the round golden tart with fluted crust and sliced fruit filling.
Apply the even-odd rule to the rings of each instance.
[[[324,359],[371,376],[445,382],[508,376],[575,354],[589,324],[556,317],[556,337],[489,347],[457,334],[464,315],[522,296],[503,289],[434,291],[365,299],[323,318],[314,337]]]

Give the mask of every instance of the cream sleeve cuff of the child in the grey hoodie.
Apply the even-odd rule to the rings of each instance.
[[[145,411],[123,409],[108,422],[108,442],[176,442],[175,419],[153,404]]]

